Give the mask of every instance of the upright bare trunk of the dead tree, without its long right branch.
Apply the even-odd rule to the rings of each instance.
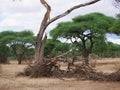
[[[43,52],[41,52],[41,47],[43,47],[42,46],[42,38],[43,38],[43,35],[44,35],[44,32],[45,32],[45,29],[47,28],[46,24],[47,24],[47,21],[49,19],[50,11],[51,11],[51,7],[47,4],[47,2],[44,1],[44,3],[43,3],[42,1],[44,1],[44,0],[40,0],[40,2],[43,5],[45,3],[44,6],[46,7],[47,11],[44,15],[44,18],[43,18],[41,26],[40,26],[39,33],[37,35],[36,46],[35,46],[35,60],[36,60],[36,62],[42,62],[40,60],[43,59],[42,58],[43,56],[41,56],[41,55],[43,55],[43,54],[41,54],[41,53],[43,53]],[[41,59],[40,59],[40,56],[41,56]]]

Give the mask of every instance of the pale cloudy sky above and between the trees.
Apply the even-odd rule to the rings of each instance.
[[[52,8],[51,17],[63,13],[70,7],[90,0],[46,0]],[[0,0],[0,32],[5,30],[22,31],[31,30],[37,35],[40,23],[45,14],[45,8],[39,0]],[[96,4],[74,10],[69,15],[53,22],[46,29],[46,33],[52,30],[57,23],[70,21],[78,15],[91,12],[100,12],[107,16],[115,17],[120,11],[113,6],[112,0],[101,0]],[[120,44],[120,36],[107,34],[108,41]]]

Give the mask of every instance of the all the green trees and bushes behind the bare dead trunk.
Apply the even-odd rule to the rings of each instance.
[[[57,57],[66,52],[77,52],[83,56],[83,63],[89,64],[89,55],[98,57],[119,57],[120,45],[107,41],[106,34],[119,36],[119,15],[116,18],[101,13],[76,16],[72,21],[62,22],[51,30],[52,39],[47,39],[45,57]],[[59,38],[66,39],[61,42]],[[0,62],[9,63],[8,58],[30,59],[35,54],[35,40],[31,31],[4,31],[0,33]],[[69,42],[68,42],[69,40]]]

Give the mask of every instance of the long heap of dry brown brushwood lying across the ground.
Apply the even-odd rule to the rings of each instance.
[[[56,64],[49,62],[28,66],[24,72],[19,75],[30,77],[55,77],[55,78],[77,78],[78,80],[96,80],[96,81],[120,81],[120,71],[111,74],[97,72],[90,66],[76,66],[70,71],[60,70]]]

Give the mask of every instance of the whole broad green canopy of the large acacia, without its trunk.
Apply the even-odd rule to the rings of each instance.
[[[104,34],[108,31],[108,28],[113,24],[114,20],[114,18],[105,16],[101,13],[90,13],[84,16],[77,16],[73,18],[73,22],[59,23],[58,26],[50,32],[50,35],[54,39],[59,37],[69,39],[87,30],[90,30],[92,33]]]

